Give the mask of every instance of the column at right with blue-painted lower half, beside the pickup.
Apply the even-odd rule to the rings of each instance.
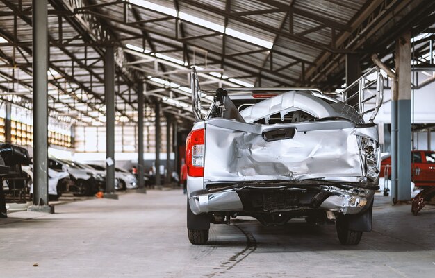
[[[393,202],[411,198],[411,31],[396,41],[395,66],[397,94],[391,98]]]

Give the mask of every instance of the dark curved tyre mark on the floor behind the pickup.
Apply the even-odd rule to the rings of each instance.
[[[233,256],[229,257],[226,261],[223,261],[220,263],[220,266],[218,268],[215,268],[216,270],[221,270],[220,272],[212,272],[208,275],[203,275],[206,277],[215,277],[216,275],[224,275],[227,270],[231,270],[234,268],[240,261],[243,261],[243,259],[246,259],[252,252],[254,252],[257,248],[256,239],[252,235],[252,233],[245,231],[242,229],[239,225],[233,224],[234,227],[240,230],[245,237],[246,237],[246,247],[241,250],[240,252],[237,252],[236,254],[233,254]]]

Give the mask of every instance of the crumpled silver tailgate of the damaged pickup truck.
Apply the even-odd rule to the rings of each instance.
[[[228,122],[222,124],[224,121]],[[356,128],[352,125],[338,129],[337,121],[324,122],[321,130],[297,129],[293,139],[268,142],[260,132],[240,130],[249,123],[237,123],[239,130],[234,130],[228,128],[231,122],[220,119],[206,123],[206,184],[309,179],[356,182],[363,176]],[[301,124],[307,125],[311,123]],[[334,129],[328,129],[328,125]],[[270,128],[273,126],[263,125],[262,129]]]

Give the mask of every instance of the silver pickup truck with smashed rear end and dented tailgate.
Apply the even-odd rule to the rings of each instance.
[[[186,141],[190,242],[206,243],[210,223],[252,216],[263,225],[335,221],[340,243],[357,245],[371,230],[379,189],[372,120],[382,83],[373,68],[345,89],[343,101],[318,89],[217,89],[203,116],[205,92],[193,68],[197,121]]]

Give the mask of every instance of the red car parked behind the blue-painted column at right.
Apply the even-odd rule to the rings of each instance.
[[[435,186],[435,152],[413,150],[411,180],[416,186]],[[391,177],[391,156],[382,159],[380,177]]]

